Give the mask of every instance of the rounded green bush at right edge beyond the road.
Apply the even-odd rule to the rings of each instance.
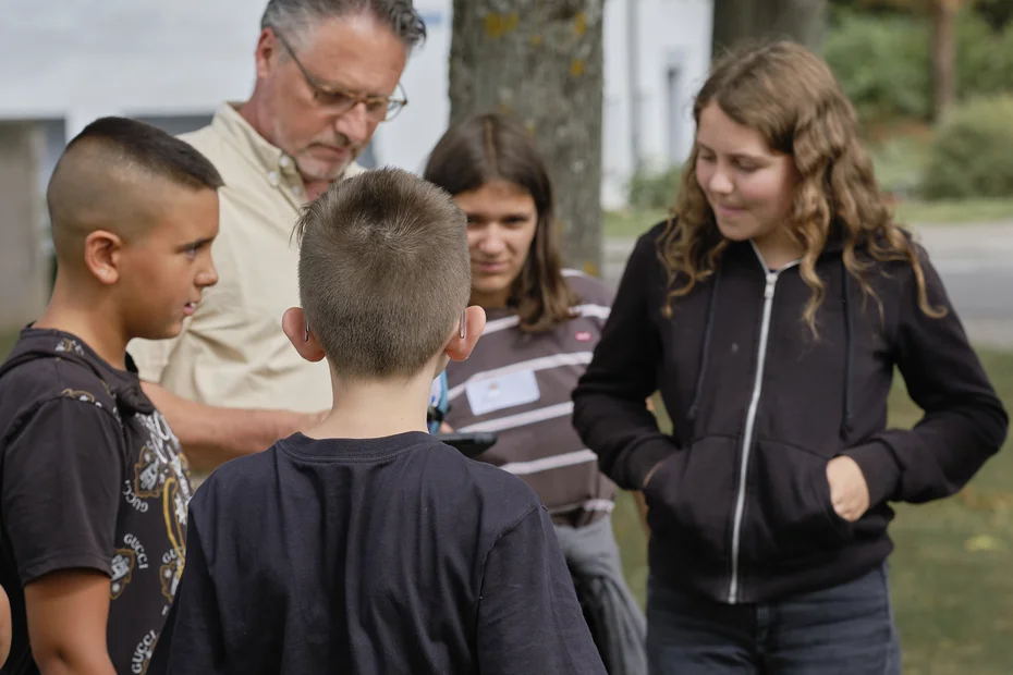
[[[929,146],[923,191],[930,199],[1013,195],[1013,95],[950,111]]]

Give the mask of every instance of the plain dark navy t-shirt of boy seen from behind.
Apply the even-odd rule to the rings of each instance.
[[[191,502],[157,673],[605,674],[518,478],[424,432],[294,434]]]

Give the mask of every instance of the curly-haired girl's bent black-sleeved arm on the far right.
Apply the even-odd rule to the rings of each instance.
[[[967,342],[942,281],[919,250],[935,319],[918,307],[912,278],[900,293],[894,343],[907,392],[925,416],[911,430],[889,429],[846,451],[862,469],[872,506],[926,502],[957,492],[1006,435],[1008,417]]]

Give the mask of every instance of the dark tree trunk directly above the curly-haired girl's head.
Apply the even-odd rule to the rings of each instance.
[[[818,51],[827,24],[827,0],[713,0],[713,41],[727,49],[756,40],[791,39]]]

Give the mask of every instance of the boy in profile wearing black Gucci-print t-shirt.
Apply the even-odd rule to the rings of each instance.
[[[190,145],[103,118],[47,192],[49,305],[0,365],[2,673],[144,673],[185,560],[187,464],[126,354],[179,334],[217,281],[221,177]]]

